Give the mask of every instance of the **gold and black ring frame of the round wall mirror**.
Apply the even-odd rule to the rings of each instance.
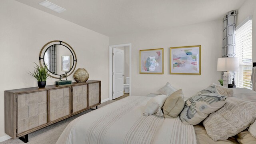
[[[74,49],[69,45],[69,44],[67,44],[66,42],[63,42],[63,41],[61,41],[61,40],[53,40],[53,41],[50,41],[50,42],[48,42],[47,44],[45,44],[43,47],[42,47],[42,49],[41,49],[41,51],[40,51],[40,53],[39,53],[39,62],[40,62],[40,66],[43,66],[43,64],[44,64],[44,62],[42,63],[42,61],[41,60],[44,60],[44,58],[42,58],[43,56],[44,56],[44,54],[43,54],[43,56],[42,56],[42,52],[43,52],[43,50],[44,50],[44,48],[46,48],[46,46],[48,46],[50,43],[53,43],[53,42],[60,42],[60,44],[61,43],[64,43],[64,44],[66,44],[67,46],[65,46],[65,45],[63,45],[63,46],[65,46],[66,48],[68,48],[68,49],[71,49],[72,51],[71,51],[71,53],[74,53],[74,65],[72,66],[72,68],[71,68],[71,70],[68,72],[69,74],[67,75],[67,76],[70,76],[73,72],[74,72],[74,70],[76,69],[76,63],[77,63],[77,59],[76,59],[76,52],[74,51]],[[48,47],[47,47],[48,48]],[[73,70],[72,70],[73,69]],[[50,72],[49,70],[48,70],[48,72]],[[50,72],[51,74],[54,74],[54,73],[52,73],[52,72]],[[54,75],[58,75],[58,74],[54,74]],[[62,74],[62,75],[64,75],[64,74]],[[61,76],[61,75],[58,75],[58,76]],[[56,77],[56,76],[52,76],[52,75],[50,75],[50,77],[52,77],[52,78],[57,78],[57,79],[59,79],[60,77]]]

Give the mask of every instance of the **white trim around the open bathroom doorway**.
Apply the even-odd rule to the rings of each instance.
[[[112,60],[112,52],[113,52],[113,48],[114,47],[123,47],[123,46],[129,46],[129,61],[130,61],[130,66],[129,66],[129,77],[130,77],[130,90],[129,90],[129,95],[131,96],[132,95],[132,44],[118,44],[118,45],[112,45],[112,46],[109,46],[109,100],[112,100],[113,97],[112,97],[112,83],[113,83],[113,79],[112,79],[112,63],[113,63],[113,60]]]

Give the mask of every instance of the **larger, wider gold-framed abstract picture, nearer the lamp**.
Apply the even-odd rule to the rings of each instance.
[[[201,75],[201,45],[170,48],[170,74]]]

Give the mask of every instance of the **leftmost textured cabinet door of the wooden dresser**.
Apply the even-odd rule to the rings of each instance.
[[[47,90],[17,94],[17,135],[47,124]]]

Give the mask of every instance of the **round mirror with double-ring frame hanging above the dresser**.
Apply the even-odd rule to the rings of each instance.
[[[54,40],[44,45],[39,54],[40,65],[47,66],[52,78],[70,76],[76,68],[76,53],[66,42]]]

